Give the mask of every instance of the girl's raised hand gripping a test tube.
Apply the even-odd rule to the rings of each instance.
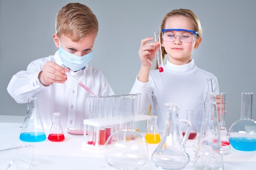
[[[152,62],[155,58],[155,53],[157,51],[156,46],[159,45],[159,42],[148,42],[153,39],[153,37],[148,37],[141,40],[139,57],[141,60],[141,66],[145,68],[151,68]]]

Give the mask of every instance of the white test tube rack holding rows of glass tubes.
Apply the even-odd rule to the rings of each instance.
[[[137,121],[145,121],[149,120],[150,116],[148,115],[135,115],[135,117],[127,117],[126,119],[115,119],[115,120],[106,120],[106,121],[99,121],[99,119],[84,119],[83,124],[84,124],[84,135],[83,135],[83,145],[82,148],[90,148],[94,149],[96,151],[101,151],[104,150],[105,145],[100,144],[99,138],[100,138],[100,128],[101,127],[106,127],[106,126],[118,126],[119,124],[124,124],[128,122],[137,122]],[[97,134],[94,135],[93,132],[90,132],[90,129],[87,129],[88,126],[92,126],[94,129],[96,129]],[[119,129],[117,129],[119,130]],[[93,135],[95,139],[93,139],[93,144],[88,144],[88,138],[90,135]]]

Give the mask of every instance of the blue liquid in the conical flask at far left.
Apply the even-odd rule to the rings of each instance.
[[[20,140],[22,141],[37,142],[44,141],[45,139],[46,136],[43,132],[26,132],[20,134]]]

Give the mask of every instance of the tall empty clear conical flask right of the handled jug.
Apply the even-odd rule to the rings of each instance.
[[[222,145],[217,115],[216,94],[207,93],[194,170],[223,170]]]

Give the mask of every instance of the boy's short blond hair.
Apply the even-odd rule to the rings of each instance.
[[[84,4],[68,3],[56,16],[56,35],[66,35],[78,42],[90,33],[98,33],[99,24],[96,15]]]

